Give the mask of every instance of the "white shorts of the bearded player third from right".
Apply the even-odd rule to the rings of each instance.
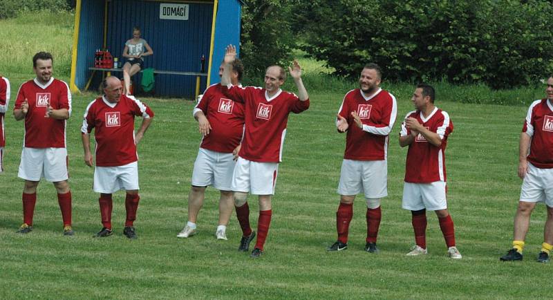
[[[388,196],[388,162],[386,160],[344,160],[341,162],[338,194],[365,198]]]

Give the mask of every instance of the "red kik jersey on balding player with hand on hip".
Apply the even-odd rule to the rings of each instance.
[[[81,131],[90,134],[95,129],[98,167],[117,167],[138,160],[134,142],[135,115],[153,118],[153,111],[135,97],[126,95],[121,95],[117,103],[98,97],[86,106]]]

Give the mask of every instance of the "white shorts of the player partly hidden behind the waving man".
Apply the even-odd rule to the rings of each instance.
[[[196,187],[212,185],[221,191],[230,191],[235,164],[232,153],[200,148],[194,162],[191,184]]]

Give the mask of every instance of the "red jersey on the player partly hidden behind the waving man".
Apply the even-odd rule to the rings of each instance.
[[[202,111],[212,130],[202,138],[200,147],[211,151],[232,153],[240,144],[244,130],[244,104],[234,102],[223,93],[221,84],[214,84],[205,90],[194,115]]]

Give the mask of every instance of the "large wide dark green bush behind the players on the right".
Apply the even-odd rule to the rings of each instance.
[[[338,75],[357,77],[376,62],[391,80],[511,88],[553,71],[550,1],[337,2],[299,6],[306,11],[303,49]]]

